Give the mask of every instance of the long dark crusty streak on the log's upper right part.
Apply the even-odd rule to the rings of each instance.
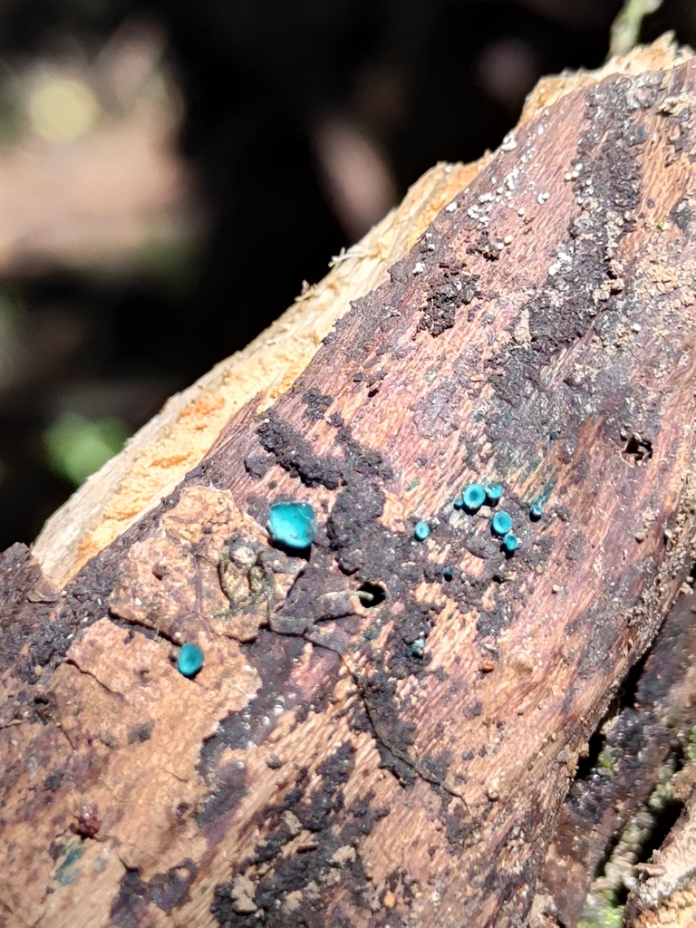
[[[485,365],[495,391],[485,429],[500,470],[514,469],[525,458],[541,463],[553,447],[551,436],[604,412],[595,397],[622,394],[617,381],[625,380],[627,368],[620,355],[611,367],[593,368],[591,376],[572,372],[553,387],[543,372],[591,328],[605,344],[615,340],[619,323],[631,312],[632,298],[617,283],[613,263],[616,245],[636,227],[631,215],[641,200],[639,157],[647,135],[637,122],[631,91],[631,81],[616,78],[586,92],[587,128],[573,161],[579,167],[574,180],[579,212],[555,253],[556,273],[521,307],[528,314],[531,341],[509,342]],[[640,105],[651,106],[655,98],[648,79]],[[598,302],[597,293],[605,298]],[[624,386],[629,395],[629,385]],[[619,421],[627,415],[627,408],[615,410]],[[564,459],[570,462],[573,456],[574,447]]]

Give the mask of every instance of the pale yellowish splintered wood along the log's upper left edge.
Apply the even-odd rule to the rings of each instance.
[[[599,71],[545,78],[528,97],[520,122],[611,74],[667,70],[689,54],[673,45],[667,34],[653,45],[612,58]],[[351,302],[389,277],[392,264],[410,251],[435,215],[470,184],[489,157],[486,154],[472,164],[438,164],[424,174],[398,209],[337,258],[327,277],[298,297],[277,322],[244,351],[174,396],[122,454],[48,520],[33,548],[45,574],[58,585],[66,583],[184,479],[242,406],[261,394],[261,411],[288,390]]]

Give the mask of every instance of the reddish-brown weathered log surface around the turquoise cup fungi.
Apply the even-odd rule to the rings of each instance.
[[[6,925],[525,922],[693,558],[695,67],[523,125],[64,591],[6,552]],[[473,479],[510,559],[452,508]],[[269,547],[277,498],[316,507],[309,561]]]

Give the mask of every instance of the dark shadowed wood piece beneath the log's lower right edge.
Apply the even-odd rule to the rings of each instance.
[[[566,797],[547,854],[543,892],[535,900],[539,913],[549,916],[539,924],[577,924],[602,861],[647,803],[662,765],[676,749],[683,754],[690,747],[690,731],[696,726],[694,610],[690,591],[678,597],[638,677],[635,694],[607,720],[603,766],[575,780]],[[673,778],[675,800],[689,798],[695,775],[696,767],[690,765]],[[696,863],[693,852],[690,863]],[[643,872],[650,874],[651,867]],[[657,897],[652,887],[651,895]]]

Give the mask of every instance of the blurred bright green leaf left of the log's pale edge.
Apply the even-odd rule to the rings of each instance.
[[[44,433],[46,458],[51,470],[79,486],[121,450],[127,437],[121,419],[86,419],[65,413]]]

